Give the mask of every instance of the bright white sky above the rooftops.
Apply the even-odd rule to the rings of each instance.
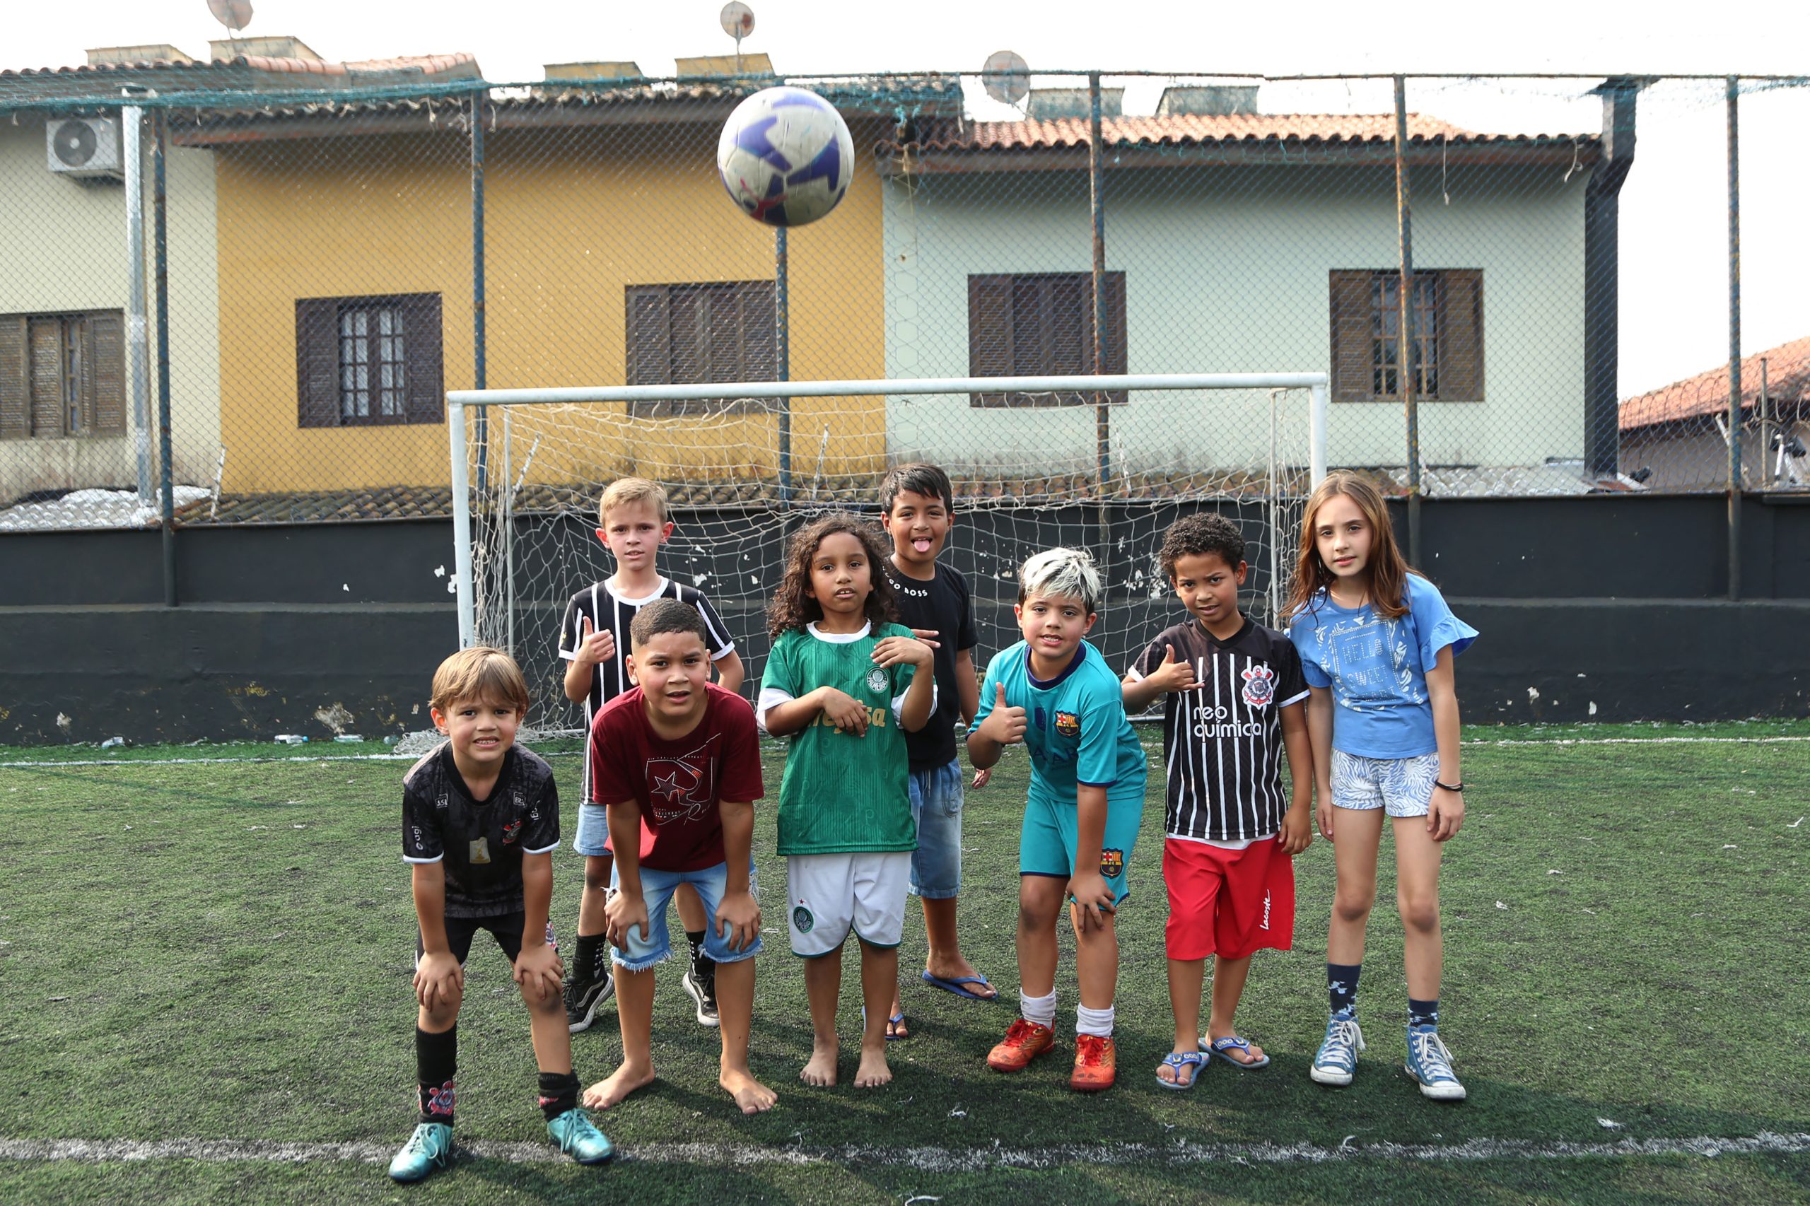
[[[1202,4],[1200,0],[749,0],[746,51],[776,71],[976,71],[1014,49],[1032,67],[1176,72],[1803,72],[1810,18],[1794,0],[1396,0]],[[295,34],[328,60],[471,51],[489,80],[521,81],[547,62],[634,60],[670,74],[681,54],[722,54],[722,0],[253,0],[246,33]],[[81,63],[85,47],[170,42],[206,54],[224,31],[206,0],[7,4],[0,69]],[[1797,18],[1788,16],[1799,11]],[[1419,112],[1500,130],[1596,130],[1600,107],[1566,92],[1587,81],[1434,87],[1410,81]],[[1160,81],[1128,91],[1149,110]],[[1267,110],[1386,110],[1363,85],[1267,89]],[[979,116],[997,116],[981,112]],[[1803,206],[1810,89],[1741,101],[1743,353],[1810,335],[1810,237]],[[1622,393],[1727,359],[1727,158],[1716,85],[1647,92],[1622,192]],[[1110,215],[1108,215],[1110,221]]]

